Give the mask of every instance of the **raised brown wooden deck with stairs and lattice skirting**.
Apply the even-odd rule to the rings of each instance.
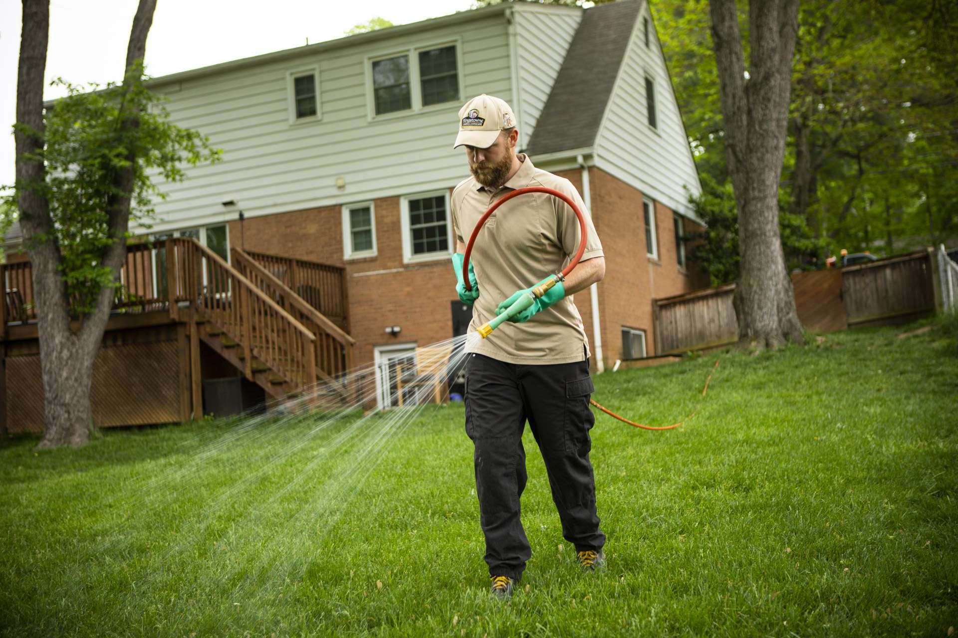
[[[341,389],[354,346],[339,325],[348,324],[342,274],[337,287],[334,267],[297,264],[313,278],[322,273],[340,295],[339,301],[330,293],[315,295],[342,312],[333,321],[258,259],[239,249],[233,254],[236,267],[186,237],[128,248],[94,363],[96,425],[177,423],[202,415],[204,374],[213,374],[203,362],[211,353],[229,364],[227,376],[245,377],[268,397],[282,399],[317,383]],[[295,276],[287,280],[302,287]],[[0,420],[11,433],[40,432],[43,386],[30,262],[0,264],[0,282],[6,287],[0,304]],[[223,366],[215,367],[224,376]]]

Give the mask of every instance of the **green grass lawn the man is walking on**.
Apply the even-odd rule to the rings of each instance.
[[[929,325],[597,377],[632,420],[698,411],[664,432],[597,417],[601,574],[561,539],[527,432],[534,554],[508,603],[488,594],[461,405],[114,431],[80,451],[16,440],[0,633],[945,636],[958,356]]]

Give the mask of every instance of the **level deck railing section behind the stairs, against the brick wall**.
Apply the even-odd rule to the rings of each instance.
[[[344,330],[347,324],[346,269],[318,261],[246,251],[286,288]]]

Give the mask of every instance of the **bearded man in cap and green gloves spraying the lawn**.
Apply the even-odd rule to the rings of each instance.
[[[482,214],[522,187],[559,190],[585,210],[579,192],[557,175],[515,153],[518,130],[504,100],[481,95],[459,112],[454,147],[466,147],[472,177],[452,192],[456,232],[456,292],[472,305],[469,332],[505,312],[519,296],[568,264],[582,241],[575,212],[545,193],[516,197],[495,210],[469,258],[467,291],[462,266],[466,239]],[[596,514],[595,478],[589,462],[592,380],[582,317],[572,295],[602,280],[602,244],[586,216],[582,260],[543,297],[487,339],[468,341],[466,432],[475,446],[476,495],[486,538],[493,596],[508,598],[532,556],[519,517],[526,486],[522,432],[526,421],[545,461],[562,536],[576,547],[585,569],[604,567],[605,536]]]

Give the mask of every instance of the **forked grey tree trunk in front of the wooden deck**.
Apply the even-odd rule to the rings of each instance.
[[[141,0],[133,19],[126,52],[127,87],[131,79],[129,68],[135,61],[142,60],[146,50],[147,33],[155,6],[155,0]],[[83,318],[78,332],[71,329],[69,299],[58,268],[60,249],[50,205],[42,189],[30,187],[42,185],[46,180],[40,154],[43,149],[43,77],[49,24],[49,0],[23,0],[16,97],[16,180],[20,223],[34,271],[44,392],[44,431],[40,448],[81,446],[89,441],[93,362],[100,349],[113,302],[113,289],[104,286],[94,313]],[[122,125],[139,125],[137,114],[131,114]],[[135,157],[127,154],[126,159],[132,163]],[[101,264],[112,268],[115,276],[119,277],[126,253],[125,232],[133,187],[132,165],[118,171],[114,186],[120,188],[122,194],[108,203],[110,236],[114,241],[104,251]]]

